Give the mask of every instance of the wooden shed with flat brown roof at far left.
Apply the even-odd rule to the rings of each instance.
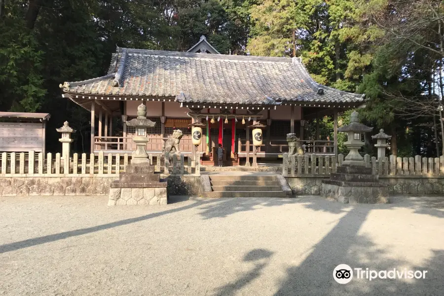
[[[0,151],[28,152],[45,155],[48,113],[0,112]]]

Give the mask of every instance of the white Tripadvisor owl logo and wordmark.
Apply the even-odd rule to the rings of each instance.
[[[333,278],[339,284],[347,284],[353,279],[353,271],[357,279],[425,279],[427,270],[370,270],[369,268],[351,268],[347,264],[339,264],[333,269]]]

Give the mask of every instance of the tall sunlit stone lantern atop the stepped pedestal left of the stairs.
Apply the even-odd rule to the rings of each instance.
[[[131,163],[147,163],[148,154],[145,150],[149,139],[147,137],[147,128],[153,127],[156,123],[149,120],[147,117],[147,106],[140,104],[137,107],[137,118],[126,121],[127,126],[134,126],[136,128],[136,136],[133,137],[133,142],[136,143],[136,150],[131,154]]]

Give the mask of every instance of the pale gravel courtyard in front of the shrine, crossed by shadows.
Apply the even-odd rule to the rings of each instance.
[[[443,295],[444,198],[0,198],[0,295]],[[426,279],[333,280],[333,269]]]

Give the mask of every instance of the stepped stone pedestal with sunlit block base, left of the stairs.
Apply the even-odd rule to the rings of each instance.
[[[138,163],[127,166],[126,173],[111,183],[109,206],[115,205],[166,205],[167,182],[160,182],[154,166]]]

